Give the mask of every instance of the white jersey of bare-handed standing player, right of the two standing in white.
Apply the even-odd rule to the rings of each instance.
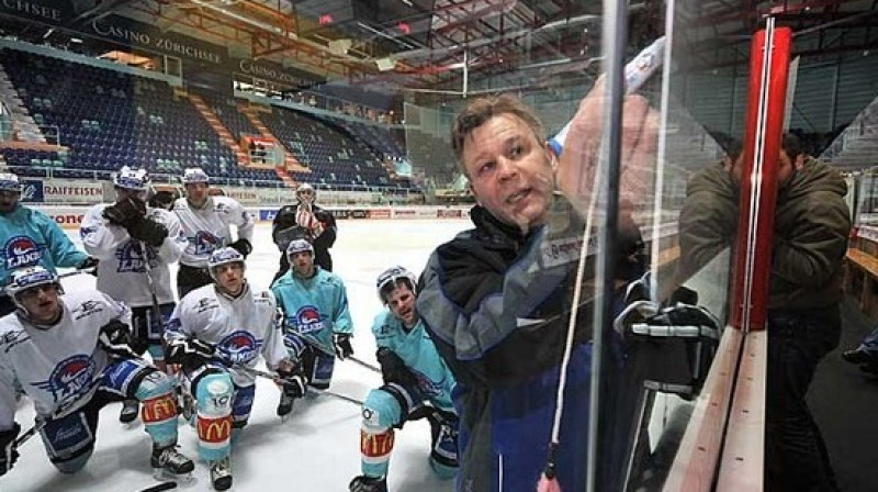
[[[207,258],[214,249],[234,242],[230,225],[238,230],[238,238],[252,243],[254,217],[237,200],[228,197],[207,197],[202,209],[192,209],[185,198],[173,202],[173,213],[180,219],[189,244],[180,262],[194,268],[207,268]]]

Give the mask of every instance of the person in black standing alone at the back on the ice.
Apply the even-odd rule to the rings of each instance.
[[[300,238],[308,239],[314,245],[314,262],[326,271],[333,271],[329,248],[336,242],[336,219],[329,211],[315,204],[317,192],[311,185],[300,185],[295,190],[295,198],[296,204],[278,210],[271,224],[271,237],[281,251],[280,269],[274,275],[274,280],[290,269],[286,246],[291,241]]]

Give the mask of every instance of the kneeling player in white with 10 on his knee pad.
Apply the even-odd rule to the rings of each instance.
[[[199,456],[211,465],[216,490],[232,487],[233,429],[250,416],[257,359],[284,380],[284,391],[301,396],[307,381],[286,359],[274,295],[251,289],[244,277],[244,255],[230,247],[211,254],[214,283],[188,293],[165,329],[166,360],[179,364],[183,384],[195,398]],[[248,370],[250,369],[250,370]]]

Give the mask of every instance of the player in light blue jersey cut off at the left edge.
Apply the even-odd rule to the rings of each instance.
[[[18,176],[0,174],[0,287],[12,270],[32,265],[48,271],[94,267],[97,260],[77,249],[52,217],[19,202],[21,191]],[[0,316],[13,311],[15,304],[0,292]]]

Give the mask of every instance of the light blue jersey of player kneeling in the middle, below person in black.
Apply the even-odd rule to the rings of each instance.
[[[341,278],[315,267],[314,277],[302,280],[288,271],[271,291],[283,310],[284,332],[293,329],[331,351],[333,333],[353,333],[348,292]]]

